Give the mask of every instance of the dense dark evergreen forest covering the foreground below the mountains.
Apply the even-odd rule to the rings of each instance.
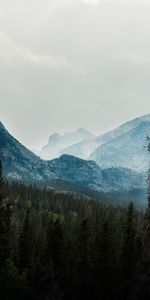
[[[149,299],[149,224],[133,203],[8,184],[0,165],[0,299]]]

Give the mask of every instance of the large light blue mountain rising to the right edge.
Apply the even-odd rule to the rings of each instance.
[[[102,169],[130,168],[145,172],[149,155],[144,148],[150,135],[150,115],[130,122],[98,138],[101,143],[90,155]]]

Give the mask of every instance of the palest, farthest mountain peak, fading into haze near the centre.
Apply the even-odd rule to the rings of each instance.
[[[75,132],[66,132],[63,135],[54,133],[50,136],[48,144],[42,148],[40,157],[47,160],[57,158],[62,154],[67,154],[63,149],[94,137],[94,134],[83,128]]]

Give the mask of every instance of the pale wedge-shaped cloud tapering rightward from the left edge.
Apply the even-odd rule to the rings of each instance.
[[[37,54],[29,47],[15,42],[7,34],[0,32],[0,63],[13,66],[17,64],[31,64],[50,69],[71,68],[71,63],[64,57],[51,54]]]

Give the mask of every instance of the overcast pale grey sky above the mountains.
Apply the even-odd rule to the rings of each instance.
[[[150,113],[149,0],[0,0],[0,120],[24,145]]]

